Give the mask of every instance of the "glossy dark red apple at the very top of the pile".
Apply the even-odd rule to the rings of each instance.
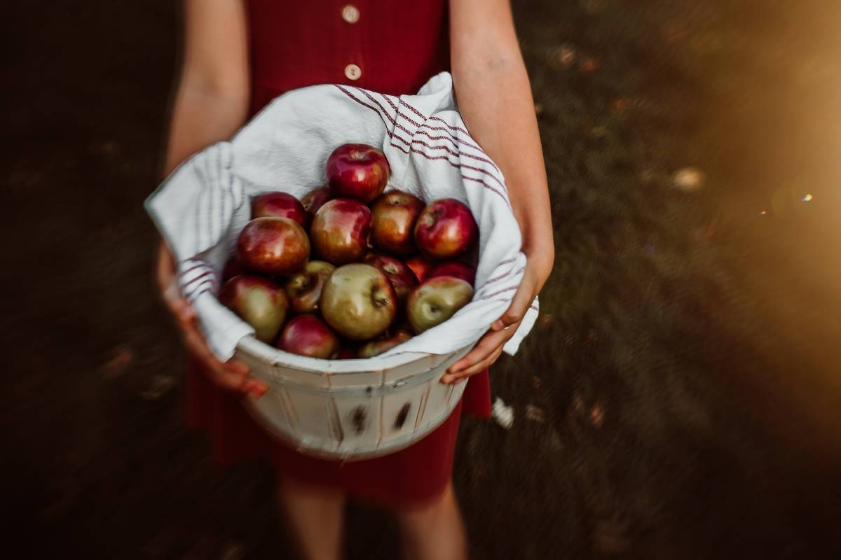
[[[365,204],[383,193],[390,171],[385,154],[368,144],[343,144],[327,158],[331,194]]]

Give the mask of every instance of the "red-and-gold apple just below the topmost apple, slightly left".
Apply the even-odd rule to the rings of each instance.
[[[371,211],[362,202],[336,198],[315,214],[309,237],[316,254],[328,263],[347,264],[362,260],[368,250]]]

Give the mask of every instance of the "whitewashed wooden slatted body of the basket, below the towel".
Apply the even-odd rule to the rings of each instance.
[[[302,453],[352,461],[399,451],[441,425],[467,383],[439,381],[471,347],[448,355],[321,360],[244,338],[236,358],[269,385],[249,400],[268,432]]]

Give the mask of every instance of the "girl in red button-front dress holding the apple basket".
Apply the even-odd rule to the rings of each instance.
[[[349,3],[350,2],[350,3]],[[267,102],[288,90],[339,83],[400,95],[451,71],[458,108],[473,139],[500,166],[523,238],[525,275],[510,308],[442,383],[471,378],[463,403],[431,435],[399,453],[356,463],[304,457],[262,432],[238,397],[265,390],[247,367],[221,363],[172,290],[174,265],[161,243],[158,279],[192,356],[194,424],[214,437],[217,458],[262,455],[278,465],[278,499],[308,558],[337,558],[346,496],[389,507],[406,557],[467,555],[452,494],[452,456],[461,411],[488,416],[487,368],[500,357],[552,269],[546,172],[532,93],[508,0],[185,0],[186,35],[166,171],[230,139]]]

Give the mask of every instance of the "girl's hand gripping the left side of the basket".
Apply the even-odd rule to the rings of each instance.
[[[204,365],[204,371],[214,384],[240,395],[252,395],[256,398],[262,396],[268,387],[261,381],[248,377],[247,364],[235,359],[222,362],[208,347],[198,330],[196,311],[178,290],[172,253],[163,242],[158,253],[157,280],[163,300],[176,318],[188,351]]]

